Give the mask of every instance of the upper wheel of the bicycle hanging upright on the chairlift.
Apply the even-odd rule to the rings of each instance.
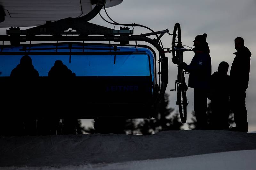
[[[177,46],[181,46],[181,32],[180,32],[180,24],[176,23],[174,25],[173,29],[173,35],[172,35],[172,57],[176,58],[176,53],[174,48]],[[177,52],[179,53],[179,52]]]

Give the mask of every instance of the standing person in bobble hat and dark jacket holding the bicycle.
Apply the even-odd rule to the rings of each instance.
[[[178,67],[189,72],[188,87],[194,89],[194,111],[196,129],[207,129],[207,90],[209,77],[212,74],[210,49],[206,42],[207,34],[197,35],[194,42],[195,56],[191,63],[181,63]]]

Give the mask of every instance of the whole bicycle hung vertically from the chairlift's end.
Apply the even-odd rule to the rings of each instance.
[[[180,64],[183,62],[184,51],[193,51],[193,50],[186,49],[184,48],[184,46],[182,46],[180,24],[176,23],[174,25],[173,35],[172,35],[172,50],[169,50],[169,52],[172,52],[172,62],[174,64]],[[186,85],[186,82],[185,82],[184,73],[188,74],[186,71],[183,71],[182,68],[178,67],[177,80],[175,81],[175,89],[170,90],[170,91],[177,90],[176,104],[179,106],[180,120],[183,124],[185,124],[187,121],[187,106],[188,106],[187,95],[186,95],[188,86]]]

